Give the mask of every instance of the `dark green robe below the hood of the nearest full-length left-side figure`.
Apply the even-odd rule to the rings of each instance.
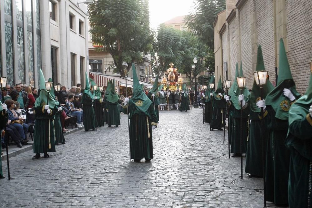
[[[37,98],[39,99],[39,98]],[[57,105],[51,110],[51,114],[44,109],[45,103],[35,107],[35,132],[34,153],[55,152],[55,128],[54,115],[57,113]],[[51,147],[49,148],[49,144]]]

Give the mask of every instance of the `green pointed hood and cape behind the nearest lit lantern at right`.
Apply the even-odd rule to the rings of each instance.
[[[261,46],[258,46],[258,52],[257,52],[257,65],[256,65],[256,71],[263,71],[264,68],[264,62],[263,62],[263,56],[262,56],[262,50]],[[266,95],[271,92],[274,89],[274,86],[269,80],[266,80],[266,84],[263,85],[262,93],[263,93],[263,99],[265,99]],[[256,81],[254,80],[252,85],[252,90],[249,95],[249,99],[247,100],[247,103],[249,104],[250,111],[259,113],[260,108],[256,106],[257,101],[261,99],[261,91],[260,87],[256,84]]]

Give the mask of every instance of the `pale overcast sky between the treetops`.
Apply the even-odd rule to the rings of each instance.
[[[149,0],[150,27],[156,29],[173,17],[188,14],[192,5],[193,0]]]

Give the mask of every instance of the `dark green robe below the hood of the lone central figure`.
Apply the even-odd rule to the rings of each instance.
[[[123,106],[124,114],[129,111],[130,158],[141,160],[153,158],[152,125],[157,126],[157,115],[153,104],[143,113],[133,103]]]

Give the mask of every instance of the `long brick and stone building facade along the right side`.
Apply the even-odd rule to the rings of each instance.
[[[312,1],[227,0],[226,5],[226,19],[218,14],[214,24],[216,75],[222,74],[222,80],[228,75],[233,80],[236,62],[241,62],[247,88],[251,89],[257,47],[261,45],[265,68],[275,85],[279,40],[283,38],[297,90],[304,93],[312,60]]]

